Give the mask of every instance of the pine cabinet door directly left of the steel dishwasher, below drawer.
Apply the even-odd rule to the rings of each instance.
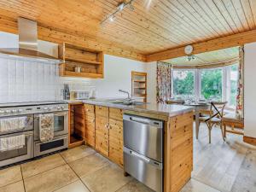
[[[109,119],[109,159],[123,166],[123,121]]]

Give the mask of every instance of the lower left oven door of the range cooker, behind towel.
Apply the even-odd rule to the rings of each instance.
[[[33,131],[18,132],[0,136],[0,138],[15,137],[22,134],[25,135],[25,145],[23,148],[0,151],[0,166],[7,166],[9,164],[33,158]]]

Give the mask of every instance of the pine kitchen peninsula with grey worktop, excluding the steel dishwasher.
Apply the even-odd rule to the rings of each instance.
[[[193,169],[193,108],[180,105],[146,103],[125,105],[119,102],[84,100],[69,102],[79,108],[73,115],[73,129],[79,125],[82,142],[123,167],[123,114],[136,115],[164,122],[163,191],[177,192],[188,182]],[[77,112],[78,110],[70,110]],[[84,124],[81,122],[84,118]],[[79,118],[76,122],[76,118]],[[84,130],[81,131],[81,125]],[[131,138],[132,139],[132,138]],[[70,138],[70,141],[73,140]],[[81,141],[80,141],[81,143]],[[77,146],[70,143],[70,146]]]

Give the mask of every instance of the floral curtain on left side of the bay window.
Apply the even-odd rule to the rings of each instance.
[[[172,96],[172,65],[157,62],[156,68],[156,102],[165,103]]]

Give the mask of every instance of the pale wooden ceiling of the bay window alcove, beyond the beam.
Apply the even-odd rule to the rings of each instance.
[[[166,62],[172,63],[176,66],[193,67],[193,66],[219,66],[225,64],[232,64],[239,60],[239,47],[229,49],[219,49],[207,53],[195,55],[195,60],[188,60],[188,56],[178,57]]]

